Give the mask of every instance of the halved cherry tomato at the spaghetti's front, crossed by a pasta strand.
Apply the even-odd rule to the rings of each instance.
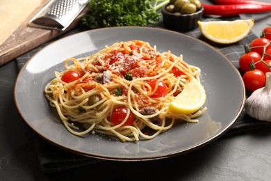
[[[122,121],[125,119],[127,115],[127,112],[128,107],[117,107],[111,115],[111,123],[113,123],[114,125],[119,125],[120,123],[122,123]],[[134,115],[132,111],[130,111],[129,116],[126,122],[124,123],[124,126],[133,125],[134,120],[135,120]]]

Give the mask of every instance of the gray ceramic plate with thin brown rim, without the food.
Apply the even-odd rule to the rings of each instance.
[[[96,134],[79,137],[65,129],[44,97],[44,86],[54,77],[54,71],[64,70],[66,58],[93,54],[105,45],[126,40],[147,41],[160,52],[170,49],[202,69],[208,111],[199,123],[180,123],[155,139],[136,143]],[[101,159],[149,160],[179,155],[217,139],[243,110],[245,88],[232,63],[200,40],[163,29],[115,27],[77,33],[44,47],[19,72],[15,102],[28,126],[60,148]]]

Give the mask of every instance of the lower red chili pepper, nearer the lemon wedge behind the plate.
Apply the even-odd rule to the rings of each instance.
[[[243,4],[231,4],[231,5],[207,5],[202,3],[204,6],[205,15],[221,15],[221,16],[233,16],[243,13],[263,13],[271,10],[270,4],[254,4],[254,3],[243,3]]]

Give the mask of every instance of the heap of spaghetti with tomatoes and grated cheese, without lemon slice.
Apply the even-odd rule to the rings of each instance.
[[[199,80],[200,69],[148,42],[117,42],[85,58],[68,58],[65,68],[55,72],[44,93],[67,130],[78,136],[98,132],[122,141],[153,139],[175,120],[197,123],[206,110],[167,111],[183,86]]]

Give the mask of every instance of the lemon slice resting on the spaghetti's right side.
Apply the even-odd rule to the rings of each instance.
[[[183,91],[170,102],[168,111],[172,113],[190,114],[199,110],[206,100],[206,94],[202,84],[197,79],[192,79]]]

